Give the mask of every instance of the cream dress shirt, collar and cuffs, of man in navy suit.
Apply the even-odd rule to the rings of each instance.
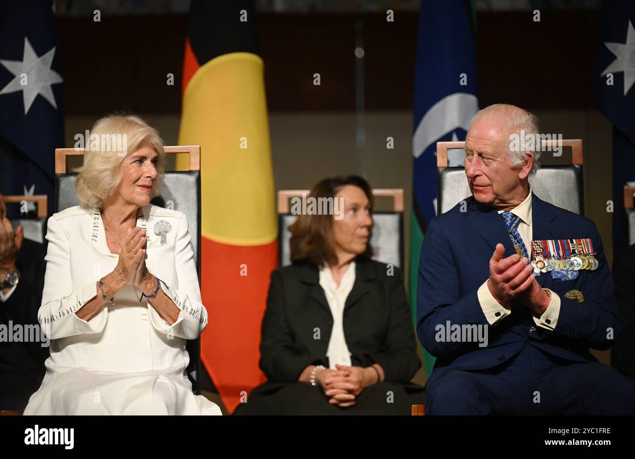
[[[502,210],[498,210],[499,215],[502,214],[502,212]],[[514,207],[511,212],[521,219],[520,223],[518,224],[518,233],[520,234],[521,238],[523,238],[523,242],[525,242],[525,248],[527,249],[527,254],[530,256],[531,261],[531,238],[533,236],[533,225],[531,223],[531,189],[529,190],[529,194],[527,195],[525,200],[518,206]],[[500,219],[500,224],[505,224],[503,219]],[[500,242],[502,243],[503,241]],[[549,273],[540,273],[540,275],[549,275]],[[483,313],[485,313],[485,317],[490,325],[496,324],[497,322],[511,314],[510,310],[507,310],[503,306],[498,304],[498,301],[496,301],[491,295],[490,289],[487,286],[487,280],[483,282],[483,285],[481,285],[481,287],[479,287],[478,289],[478,299],[479,303],[481,304],[481,308],[483,309]],[[536,325],[538,325],[538,327],[542,327],[547,330],[553,330],[554,328],[556,328],[556,324],[558,323],[559,313],[560,297],[558,296],[558,294],[556,294],[556,292],[551,291],[551,302],[549,303],[547,310],[545,310],[540,318],[534,316],[533,321],[536,323]],[[546,322],[547,320],[549,320],[550,322]]]

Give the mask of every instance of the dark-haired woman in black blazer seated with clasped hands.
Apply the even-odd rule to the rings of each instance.
[[[272,273],[262,322],[269,381],[236,414],[410,414],[425,402],[409,383],[420,360],[401,271],[370,259],[370,185],[325,179],[309,198],[333,213],[289,228],[293,264]]]

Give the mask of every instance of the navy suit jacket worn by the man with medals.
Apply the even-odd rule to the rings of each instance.
[[[602,240],[589,219],[551,205],[533,195],[533,239],[591,238],[599,267],[580,270],[575,280],[553,280],[550,273],[537,276],[542,287],[558,294],[561,308],[554,331],[536,326],[529,308],[512,302],[511,315],[488,327],[488,346],[478,343],[437,342],[438,324],[488,324],[479,305],[478,288],[489,277],[489,261],[497,243],[505,257],[516,251],[496,209],[467,198],[467,212],[460,203],[432,219],[421,249],[417,285],[417,335],[437,357],[429,382],[450,370],[486,369],[518,353],[526,341],[566,360],[595,361],[589,347],[608,349],[607,329],[620,332],[618,308],[613,297],[613,277]],[[530,243],[530,241],[526,241]],[[584,301],[565,298],[578,290]],[[533,328],[533,330],[532,330]]]

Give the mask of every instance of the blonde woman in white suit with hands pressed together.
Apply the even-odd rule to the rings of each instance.
[[[185,374],[186,340],[207,312],[185,214],[150,204],[163,141],[136,116],[102,118],[95,134],[124,135],[128,151],[91,142],[77,176],[84,205],[48,220],[38,319],[51,357],[24,414],[220,414]]]

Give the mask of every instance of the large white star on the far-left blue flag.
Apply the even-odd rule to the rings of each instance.
[[[58,72],[51,69],[55,48],[56,46],[53,46],[47,53],[37,57],[29,43],[29,39],[25,37],[22,61],[0,59],[0,64],[4,65],[8,71],[15,75],[15,78],[0,91],[0,95],[22,91],[24,114],[27,114],[38,94],[48,100],[53,108],[57,109],[51,85],[62,83],[64,80]],[[23,74],[26,76],[25,85],[22,85]]]

